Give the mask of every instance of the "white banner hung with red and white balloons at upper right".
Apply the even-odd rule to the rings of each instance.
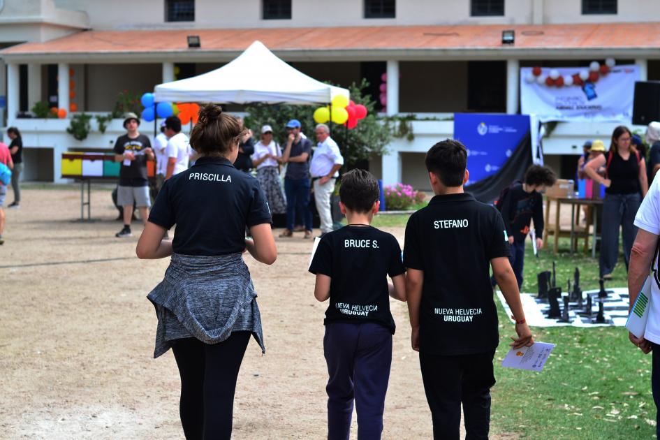
[[[626,122],[633,115],[639,67],[520,69],[520,110],[546,121]]]

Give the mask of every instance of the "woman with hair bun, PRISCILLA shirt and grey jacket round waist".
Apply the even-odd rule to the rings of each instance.
[[[138,258],[172,256],[147,298],[158,316],[154,358],[172,348],[179,367],[186,439],[231,437],[236,380],[250,335],[265,350],[242,254],[247,250],[270,265],[277,249],[261,187],[233,166],[242,135],[236,118],[219,106],[200,111],[190,144],[201,156],[166,180],[136,249]],[[174,240],[162,240],[175,224]]]

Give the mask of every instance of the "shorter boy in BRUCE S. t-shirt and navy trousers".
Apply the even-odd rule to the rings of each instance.
[[[405,270],[395,237],[369,226],[380,206],[376,178],[349,171],[339,198],[349,224],[323,235],[309,267],[316,299],[330,298],[323,338],[328,439],[349,438],[353,396],[358,438],[380,439],[395,331],[388,294],[406,300]]]

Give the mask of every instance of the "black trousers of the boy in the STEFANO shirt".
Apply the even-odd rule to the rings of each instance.
[[[434,439],[459,439],[461,404],[466,439],[487,439],[490,387],[495,384],[492,353],[439,356],[420,353],[426,399],[433,418]]]

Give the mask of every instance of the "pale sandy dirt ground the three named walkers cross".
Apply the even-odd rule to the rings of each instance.
[[[156,315],[147,293],[168,260],[140,261],[115,238],[110,191],[25,189],[6,210],[0,247],[0,438],[182,439],[171,351],[153,359]],[[11,191],[8,201],[13,200]],[[403,242],[403,228],[390,228]],[[275,230],[274,233],[279,233]],[[245,259],[258,292],[266,354],[251,341],[235,397],[235,439],[323,439],[323,311],[307,272],[311,241],[277,238],[272,266]],[[404,303],[397,323],[384,439],[429,439],[431,418]],[[497,404],[497,402],[494,402]],[[356,437],[353,417],[352,437]],[[506,436],[510,439],[515,436]]]

